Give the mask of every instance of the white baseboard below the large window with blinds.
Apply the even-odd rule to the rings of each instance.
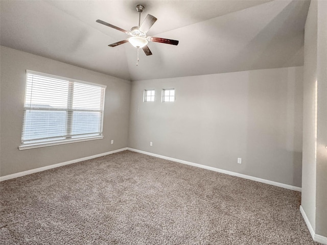
[[[89,159],[92,159],[92,158],[102,157],[102,156],[105,156],[105,155],[110,155],[112,153],[122,152],[122,151],[126,151],[126,150],[127,150],[127,148],[122,148],[122,149],[118,149],[118,150],[114,150],[114,151],[110,151],[110,152],[100,153],[100,154],[93,155],[93,156],[74,159],[74,160],[67,161],[67,162],[61,162],[61,163],[57,163],[57,164],[53,164],[53,165],[49,165],[49,166],[38,167],[38,168],[31,169],[31,170],[19,172],[19,173],[16,173],[16,174],[2,176],[2,177],[0,177],[0,181],[10,180],[10,179],[14,179],[14,178],[17,178],[17,177],[30,175],[30,174],[34,174],[34,173],[37,173],[37,172],[40,172],[40,171],[48,170],[48,169],[51,169],[51,168],[60,167],[60,166],[64,166],[64,165],[68,165],[68,164],[72,164],[72,163],[76,163],[76,162],[81,162],[81,161],[89,160]]]

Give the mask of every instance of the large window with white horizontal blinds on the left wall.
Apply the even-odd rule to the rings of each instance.
[[[99,139],[106,86],[27,70],[19,150]]]

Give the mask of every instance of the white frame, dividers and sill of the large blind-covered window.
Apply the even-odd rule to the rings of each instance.
[[[59,79],[59,80],[68,81],[68,93],[71,96],[67,95],[68,96],[67,97],[67,107],[65,109],[59,109],[59,108],[52,109],[53,111],[65,111],[66,112],[66,120],[65,120],[66,135],[63,136],[63,137],[65,137],[64,139],[62,139],[63,137],[61,137],[61,139],[51,140],[52,137],[48,137],[48,138],[45,138],[44,141],[42,141],[39,138],[39,139],[35,139],[35,140],[33,140],[33,139],[29,140],[29,141],[34,141],[34,142],[24,142],[22,134],[24,131],[23,127],[24,127],[25,120],[26,120],[26,111],[30,110],[30,109],[37,110],[37,107],[32,107],[31,105],[29,105],[29,106],[26,105],[28,74],[35,75],[35,76],[42,76],[42,77],[46,77],[49,79]],[[72,85],[74,86],[74,83],[91,85],[91,86],[96,86],[96,87],[101,88],[101,100],[100,100],[100,109],[99,110],[87,109],[87,108],[74,109],[72,107],[72,105],[73,105],[72,96],[74,95],[74,93],[71,92],[70,90],[72,89],[71,86]],[[71,79],[71,78],[60,77],[60,76],[51,75],[51,74],[45,74],[43,72],[38,72],[38,71],[33,71],[33,70],[26,70],[26,87],[25,87],[24,109],[23,109],[24,114],[23,114],[23,118],[22,118],[22,129],[21,129],[21,145],[18,146],[18,149],[19,150],[27,150],[27,149],[33,149],[33,148],[41,148],[44,146],[103,139],[104,138],[104,136],[103,136],[103,121],[104,121],[104,105],[105,105],[106,87],[107,86],[102,85],[102,84],[90,83],[90,82],[85,82],[85,81],[81,81],[81,80],[77,80],[77,79]],[[84,111],[84,112],[99,111],[100,113],[102,113],[102,118],[100,119],[101,126],[99,128],[99,132],[97,133],[98,135],[91,135],[91,134],[95,134],[95,133],[89,133],[88,135],[86,133],[83,133],[83,134],[85,134],[85,137],[74,138],[74,135],[69,133],[69,129],[70,130],[73,129],[73,120],[69,120],[69,119],[73,118],[73,113],[75,111]],[[58,136],[56,138],[60,138],[60,136]],[[46,140],[46,139],[49,139],[49,140]],[[28,140],[25,140],[25,141],[28,141]],[[35,142],[35,141],[38,141],[38,142]]]

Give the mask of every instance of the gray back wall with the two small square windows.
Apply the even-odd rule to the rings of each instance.
[[[129,147],[300,187],[302,67],[132,82]]]

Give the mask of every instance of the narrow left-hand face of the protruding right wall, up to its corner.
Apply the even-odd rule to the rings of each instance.
[[[309,7],[305,27],[305,64],[303,67],[303,153],[301,206],[315,230],[315,83],[317,81],[317,2]]]

